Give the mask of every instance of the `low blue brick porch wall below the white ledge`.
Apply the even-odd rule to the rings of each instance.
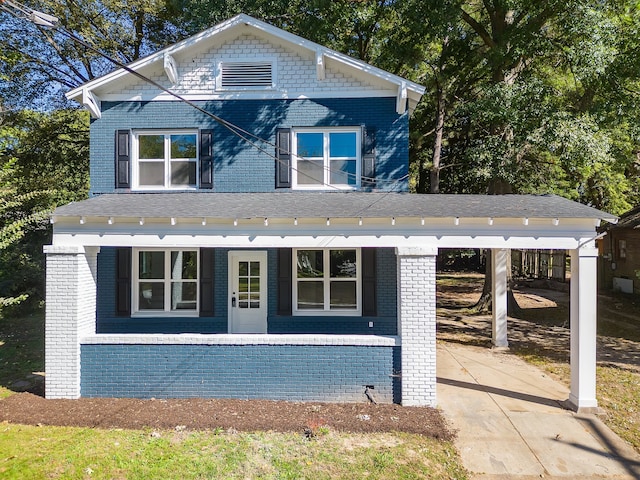
[[[399,401],[400,347],[82,345],[83,397]]]

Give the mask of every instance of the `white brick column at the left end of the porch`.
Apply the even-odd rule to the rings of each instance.
[[[96,330],[97,247],[45,245],[45,396],[80,396],[80,337]]]

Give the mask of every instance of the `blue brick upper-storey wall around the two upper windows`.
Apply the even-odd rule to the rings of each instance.
[[[197,102],[242,129],[275,143],[278,127],[358,126],[376,129],[379,190],[408,189],[408,114],[398,115],[395,98],[228,100]],[[228,129],[179,102],[102,102],[102,118],[91,123],[91,194],[115,191],[114,132],[118,129],[212,128],[214,192],[275,189],[275,160]],[[256,141],[269,154],[274,147]],[[403,179],[401,184],[396,180]],[[211,191],[211,190],[209,190]]]

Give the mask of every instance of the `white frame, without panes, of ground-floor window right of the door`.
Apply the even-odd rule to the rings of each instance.
[[[292,314],[294,316],[309,317],[309,316],[328,316],[328,317],[359,317],[362,316],[362,250],[360,248],[294,248],[292,249]],[[323,277],[302,279],[298,278],[298,252],[306,250],[321,251],[323,254]],[[356,276],[345,278],[331,278],[330,275],[330,251],[331,250],[355,250],[356,252]],[[311,310],[311,309],[298,309],[298,283],[307,281],[320,281],[324,283],[324,308]],[[356,308],[354,310],[331,310],[330,295],[331,295],[331,282],[356,282]]]

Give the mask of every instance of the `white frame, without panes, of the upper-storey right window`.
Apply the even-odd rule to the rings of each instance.
[[[329,136],[332,133],[355,133],[356,134],[356,184],[332,184],[331,183],[331,157]],[[324,178],[320,185],[305,185],[298,182],[298,141],[299,133],[322,133],[323,134],[323,172]],[[295,190],[359,190],[362,186],[362,127],[309,127],[309,128],[293,128],[291,130],[291,188]],[[351,160],[351,158],[338,157],[335,160]]]

